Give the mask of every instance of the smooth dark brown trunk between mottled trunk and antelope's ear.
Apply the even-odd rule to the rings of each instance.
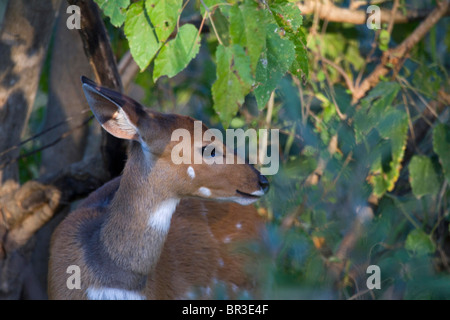
[[[52,129],[41,138],[41,145],[48,145],[65,132],[70,136],[46,148],[41,153],[40,173],[54,174],[74,162],[82,160],[89,127],[80,126],[89,117],[89,105],[81,88],[82,75],[92,78],[93,72],[83,51],[83,43],[76,29],[68,29],[67,2],[61,4],[55,27],[50,56],[48,103],[43,130]],[[65,119],[70,119],[65,121]]]

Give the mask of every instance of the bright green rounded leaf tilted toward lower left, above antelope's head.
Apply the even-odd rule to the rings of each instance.
[[[186,68],[200,48],[200,35],[192,24],[183,25],[175,39],[166,43],[155,60],[153,79],[161,76],[173,77]]]

